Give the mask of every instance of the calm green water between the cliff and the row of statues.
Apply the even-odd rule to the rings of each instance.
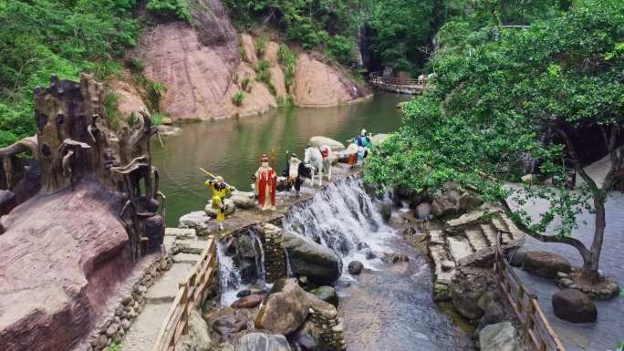
[[[303,159],[307,140],[324,136],[345,142],[364,128],[386,133],[400,126],[396,105],[409,96],[377,93],[370,101],[336,108],[278,108],[244,119],[183,124],[179,135],[164,139],[165,149],[152,140],[152,160],[161,170],[161,191],[167,196],[167,224],[177,226],[184,213],[202,209],[209,191],[199,168],[222,175],[242,191],[250,190],[250,176],[271,147],[277,153],[277,172],[286,150]]]

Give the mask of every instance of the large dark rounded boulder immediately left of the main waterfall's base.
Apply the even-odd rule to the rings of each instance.
[[[327,247],[291,232],[284,232],[284,247],[293,274],[305,275],[317,285],[328,285],[338,280],[341,262],[336,253]]]

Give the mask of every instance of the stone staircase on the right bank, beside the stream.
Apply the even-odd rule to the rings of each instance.
[[[500,209],[482,207],[429,231],[436,301],[449,299],[450,285],[460,265],[484,266],[493,262],[496,233],[503,231],[504,248],[521,245],[525,233]]]

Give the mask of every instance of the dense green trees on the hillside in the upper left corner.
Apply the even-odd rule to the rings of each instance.
[[[35,133],[33,89],[49,77],[118,75],[135,46],[134,0],[0,2],[0,147]]]

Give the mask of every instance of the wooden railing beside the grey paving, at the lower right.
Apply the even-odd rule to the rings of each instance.
[[[498,231],[494,271],[503,294],[514,307],[515,315],[524,326],[527,343],[535,346],[537,351],[566,351],[539,307],[536,296],[526,289],[525,284],[507,262],[501,247],[502,234],[502,231]]]

